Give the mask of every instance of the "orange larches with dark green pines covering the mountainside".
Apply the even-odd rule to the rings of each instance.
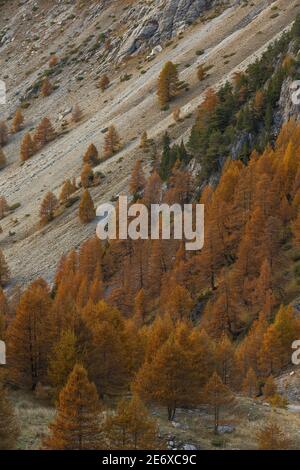
[[[12,300],[0,290],[8,384],[49,387],[58,400],[45,448],[156,449],[162,444],[155,417],[161,409],[174,421],[179,408],[201,406],[217,434],[223,412],[236,415],[240,403],[286,406],[275,377],[290,366],[291,344],[300,334],[293,302],[300,279],[300,126],[291,119],[273,135],[278,90],[294,67],[282,57],[281,66],[264,55],[263,64],[236,73],[219,91],[208,89],[188,142],[172,143],[171,130],[161,143],[141,135],[139,153],[153,147],[155,158],[152,168],[144,155],[134,162],[132,199],[148,207],[203,203],[203,249],[189,252],[173,238],[102,243],[93,237],[62,256],[53,286],[39,279]],[[266,81],[275,62],[276,80]],[[181,85],[176,65],[167,63],[158,81],[162,108]],[[178,113],[174,117],[180,119]],[[24,137],[22,159],[54,136],[44,119],[33,143],[29,134]],[[233,146],[241,136],[243,148]],[[120,148],[111,126],[104,158]],[[235,158],[227,158],[232,149]],[[95,218],[87,188],[98,161],[90,145],[76,206],[84,224]],[[76,201],[75,190],[76,181],[64,181],[60,203]],[[48,193],[43,221],[56,215],[57,204]],[[118,204],[116,213],[118,223]],[[9,270],[1,256],[0,281],[7,286]],[[270,420],[256,445],[285,449],[291,446],[287,437]]]

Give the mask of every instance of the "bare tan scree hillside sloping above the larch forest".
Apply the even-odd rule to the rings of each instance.
[[[173,139],[185,136],[207,87],[219,86],[244,69],[269,41],[289,28],[297,2],[275,2],[276,10],[273,3],[233,2],[230,6],[228,2],[169,1],[145,6],[144,2],[124,2],[121,16],[118,2],[91,2],[85,7],[84,2],[49,6],[47,1],[28,1],[21,6],[17,2],[2,6],[0,60],[8,99],[1,114],[10,119],[21,103],[25,115],[24,130],[11,136],[5,147],[9,165],[2,170],[0,181],[1,195],[10,205],[20,204],[1,224],[1,245],[13,282],[23,284],[39,275],[51,281],[59,257],[93,234],[94,224],[79,225],[77,204],[46,228],[37,227],[44,194],[49,190],[58,194],[66,178],[79,176],[87,146],[94,143],[101,153],[104,130],[111,123],[116,125],[124,149],[96,168],[105,178],[92,194],[97,204],[126,191],[142,131],[147,130],[158,145],[168,128]],[[135,22],[139,26],[135,27]],[[146,41],[141,40],[145,37]],[[161,52],[158,49],[147,59],[158,44]],[[202,50],[202,55],[196,54]],[[41,98],[38,83],[49,70],[53,53],[60,59],[51,70],[56,89]],[[172,108],[160,111],[156,98],[157,77],[166,60],[179,64],[180,79],[189,84],[188,91],[172,105],[180,106],[185,117],[175,127]],[[197,82],[196,68],[203,62],[213,68],[202,84]],[[104,71],[109,73],[111,84],[102,94],[96,84]],[[126,75],[127,79],[120,81]],[[69,121],[76,103],[80,103],[84,119],[74,125]],[[45,116],[60,136],[21,166],[21,139]],[[147,168],[146,159],[144,163]]]

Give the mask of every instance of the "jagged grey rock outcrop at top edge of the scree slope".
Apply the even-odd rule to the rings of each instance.
[[[154,8],[133,6],[127,11],[124,23],[136,24],[127,34],[120,57],[133,54],[143,47],[166,41],[192,24],[208,9],[230,5],[232,0],[158,0]]]

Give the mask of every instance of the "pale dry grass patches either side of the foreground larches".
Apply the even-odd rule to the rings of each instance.
[[[54,408],[19,391],[12,393],[12,401],[21,429],[17,447],[25,450],[39,449],[48,424],[54,417]],[[278,421],[292,442],[292,447],[300,448],[300,413],[272,409],[260,400],[238,397],[231,408],[223,410],[220,424],[231,425],[234,431],[219,436],[213,432],[213,415],[206,406],[193,410],[179,409],[174,422],[167,420],[164,408],[154,408],[152,414],[158,422],[165,446],[173,441],[176,448],[188,443],[198,449],[256,449],[256,434],[272,417]]]

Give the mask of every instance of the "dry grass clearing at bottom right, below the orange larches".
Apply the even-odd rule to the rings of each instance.
[[[161,434],[179,447],[182,443],[194,444],[198,449],[237,449],[254,450],[257,448],[256,434],[271,417],[292,442],[294,449],[300,448],[300,413],[284,409],[272,409],[259,400],[238,397],[235,405],[221,412],[222,425],[234,426],[234,432],[216,436],[213,432],[213,415],[207,407],[197,410],[179,410],[175,426],[168,423],[162,410],[156,411]]]

